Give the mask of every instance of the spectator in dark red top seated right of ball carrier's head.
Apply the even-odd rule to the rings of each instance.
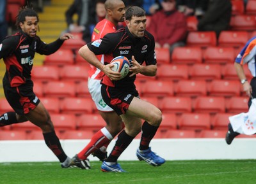
[[[161,6],[163,10],[152,15],[148,31],[155,38],[156,48],[168,48],[172,53],[176,46],[185,45],[186,17],[175,8],[175,0],[163,0]]]

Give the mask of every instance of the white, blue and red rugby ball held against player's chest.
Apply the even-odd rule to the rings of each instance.
[[[113,66],[111,67],[112,71],[121,73],[122,77],[120,79],[124,78],[129,73],[130,62],[125,56],[121,55],[115,57],[111,60],[110,64],[113,64]]]

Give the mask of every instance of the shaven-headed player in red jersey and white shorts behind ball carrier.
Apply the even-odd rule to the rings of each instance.
[[[121,0],[107,0],[105,2],[106,18],[100,21],[93,29],[92,41],[103,38],[109,32],[115,32],[118,22],[124,22],[125,5]],[[99,61],[104,64],[106,60],[104,55],[97,55]],[[95,66],[91,65],[88,78],[88,88],[97,110],[106,122],[106,127],[98,131],[91,139],[90,143],[81,150],[77,155],[72,158],[70,167],[77,166],[81,169],[88,169],[84,165],[83,160],[88,161],[87,157],[93,155],[104,160],[107,157],[106,148],[110,141],[120,132],[123,128],[122,119],[116,115],[115,111],[110,108],[102,99],[100,88],[100,81],[104,73]]]

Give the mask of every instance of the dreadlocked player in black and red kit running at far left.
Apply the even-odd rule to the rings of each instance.
[[[61,148],[51,117],[33,92],[31,69],[35,52],[50,55],[60,48],[63,41],[73,36],[69,33],[63,34],[56,41],[45,44],[36,36],[38,22],[36,11],[31,6],[25,6],[17,15],[18,32],[7,36],[0,44],[0,59],[3,58],[6,65],[3,78],[4,95],[14,110],[1,115],[0,127],[29,120],[42,129],[45,143],[58,157],[61,167],[68,167],[71,160]]]

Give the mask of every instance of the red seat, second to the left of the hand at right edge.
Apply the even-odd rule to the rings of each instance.
[[[175,85],[176,96],[197,97],[206,96],[207,88],[205,80],[180,80]]]

